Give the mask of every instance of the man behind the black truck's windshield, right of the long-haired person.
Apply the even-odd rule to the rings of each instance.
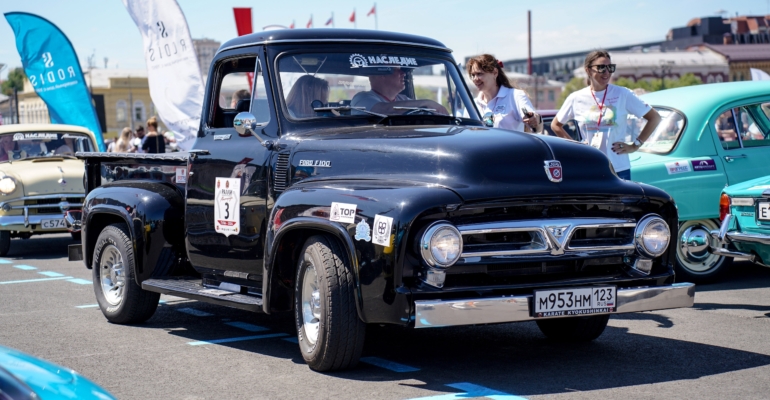
[[[372,90],[356,93],[350,101],[351,107],[364,107],[369,111],[381,114],[403,114],[408,110],[398,110],[394,107],[418,107],[435,110],[437,114],[448,115],[447,109],[432,100],[412,100],[401,94],[406,87],[404,78],[406,71],[400,67],[382,67],[378,71],[386,74],[369,76]]]

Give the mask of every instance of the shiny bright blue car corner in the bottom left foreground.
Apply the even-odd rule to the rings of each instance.
[[[77,372],[0,346],[0,399],[98,399],[114,397]]]

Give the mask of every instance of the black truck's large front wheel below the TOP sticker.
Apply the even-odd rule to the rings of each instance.
[[[366,325],[358,317],[355,289],[353,270],[338,242],[326,235],[310,237],[300,252],[294,315],[302,358],[311,369],[335,371],[358,364]]]

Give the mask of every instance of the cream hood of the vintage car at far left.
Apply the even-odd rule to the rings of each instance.
[[[45,194],[83,195],[83,161],[62,158],[37,158],[4,163],[0,171],[16,179],[24,196]],[[17,192],[18,193],[18,190]]]

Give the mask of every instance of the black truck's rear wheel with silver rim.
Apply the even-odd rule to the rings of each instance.
[[[135,324],[155,313],[160,293],[143,290],[134,279],[134,251],[126,224],[112,224],[94,246],[93,280],[96,300],[108,321]],[[111,286],[114,290],[105,289]]]

